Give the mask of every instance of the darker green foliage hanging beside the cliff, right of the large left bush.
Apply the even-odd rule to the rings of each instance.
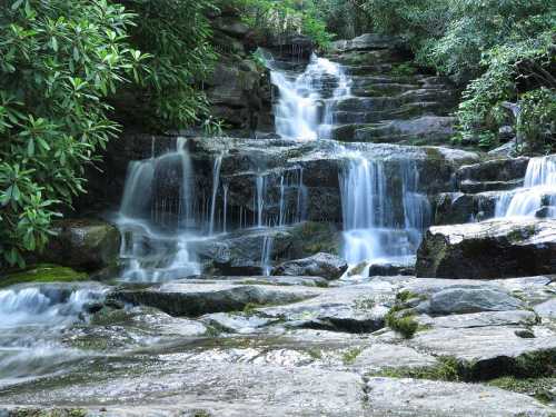
[[[207,14],[214,0],[119,0],[139,16],[130,28],[130,42],[149,53],[142,77],[147,98],[141,117],[151,126],[181,128],[208,116],[200,89],[210,73],[216,53]]]

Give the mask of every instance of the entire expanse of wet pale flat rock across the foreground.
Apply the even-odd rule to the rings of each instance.
[[[342,279],[328,288],[307,287],[310,279],[220,277],[112,291],[90,312],[89,324],[64,331],[66,344],[87,347],[82,356],[61,375],[2,385],[0,408],[23,413],[18,416],[27,413],[21,407],[29,413],[81,409],[90,416],[554,413],[530,396],[488,386],[500,375],[550,378],[554,321],[530,308],[552,301],[552,277],[488,282],[375,277],[357,285]],[[163,300],[158,307],[172,316],[141,296],[133,306],[112,301],[125,292],[157,292]],[[498,301],[476,296],[487,292],[499,294]],[[165,298],[176,294],[187,298],[180,311]],[[244,301],[228,304],[235,311],[221,311],[222,294]],[[246,294],[250,302],[272,306],[246,308]],[[193,298],[205,300],[205,315],[173,317]],[[217,298],[218,306],[208,302]],[[434,315],[418,307],[454,298],[470,299],[474,307],[455,302]],[[400,299],[420,322],[409,339],[388,329],[384,319]],[[446,368],[446,358],[460,365]],[[439,375],[448,380],[436,380]],[[456,377],[459,383],[449,381]]]

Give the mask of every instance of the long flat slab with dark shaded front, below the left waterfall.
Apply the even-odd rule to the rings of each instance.
[[[112,296],[127,302],[156,307],[172,316],[197,317],[240,311],[248,305],[295,302],[320,294],[320,288],[180,280],[147,289],[120,290]]]

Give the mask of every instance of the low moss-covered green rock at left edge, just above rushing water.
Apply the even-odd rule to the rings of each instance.
[[[56,265],[38,265],[23,271],[0,277],[0,288],[23,282],[73,282],[86,281],[89,276],[71,268]]]

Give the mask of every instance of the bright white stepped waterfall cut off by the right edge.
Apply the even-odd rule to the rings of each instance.
[[[544,209],[544,212],[542,210]],[[532,158],[524,187],[505,192],[495,217],[542,216],[556,218],[556,157]]]

